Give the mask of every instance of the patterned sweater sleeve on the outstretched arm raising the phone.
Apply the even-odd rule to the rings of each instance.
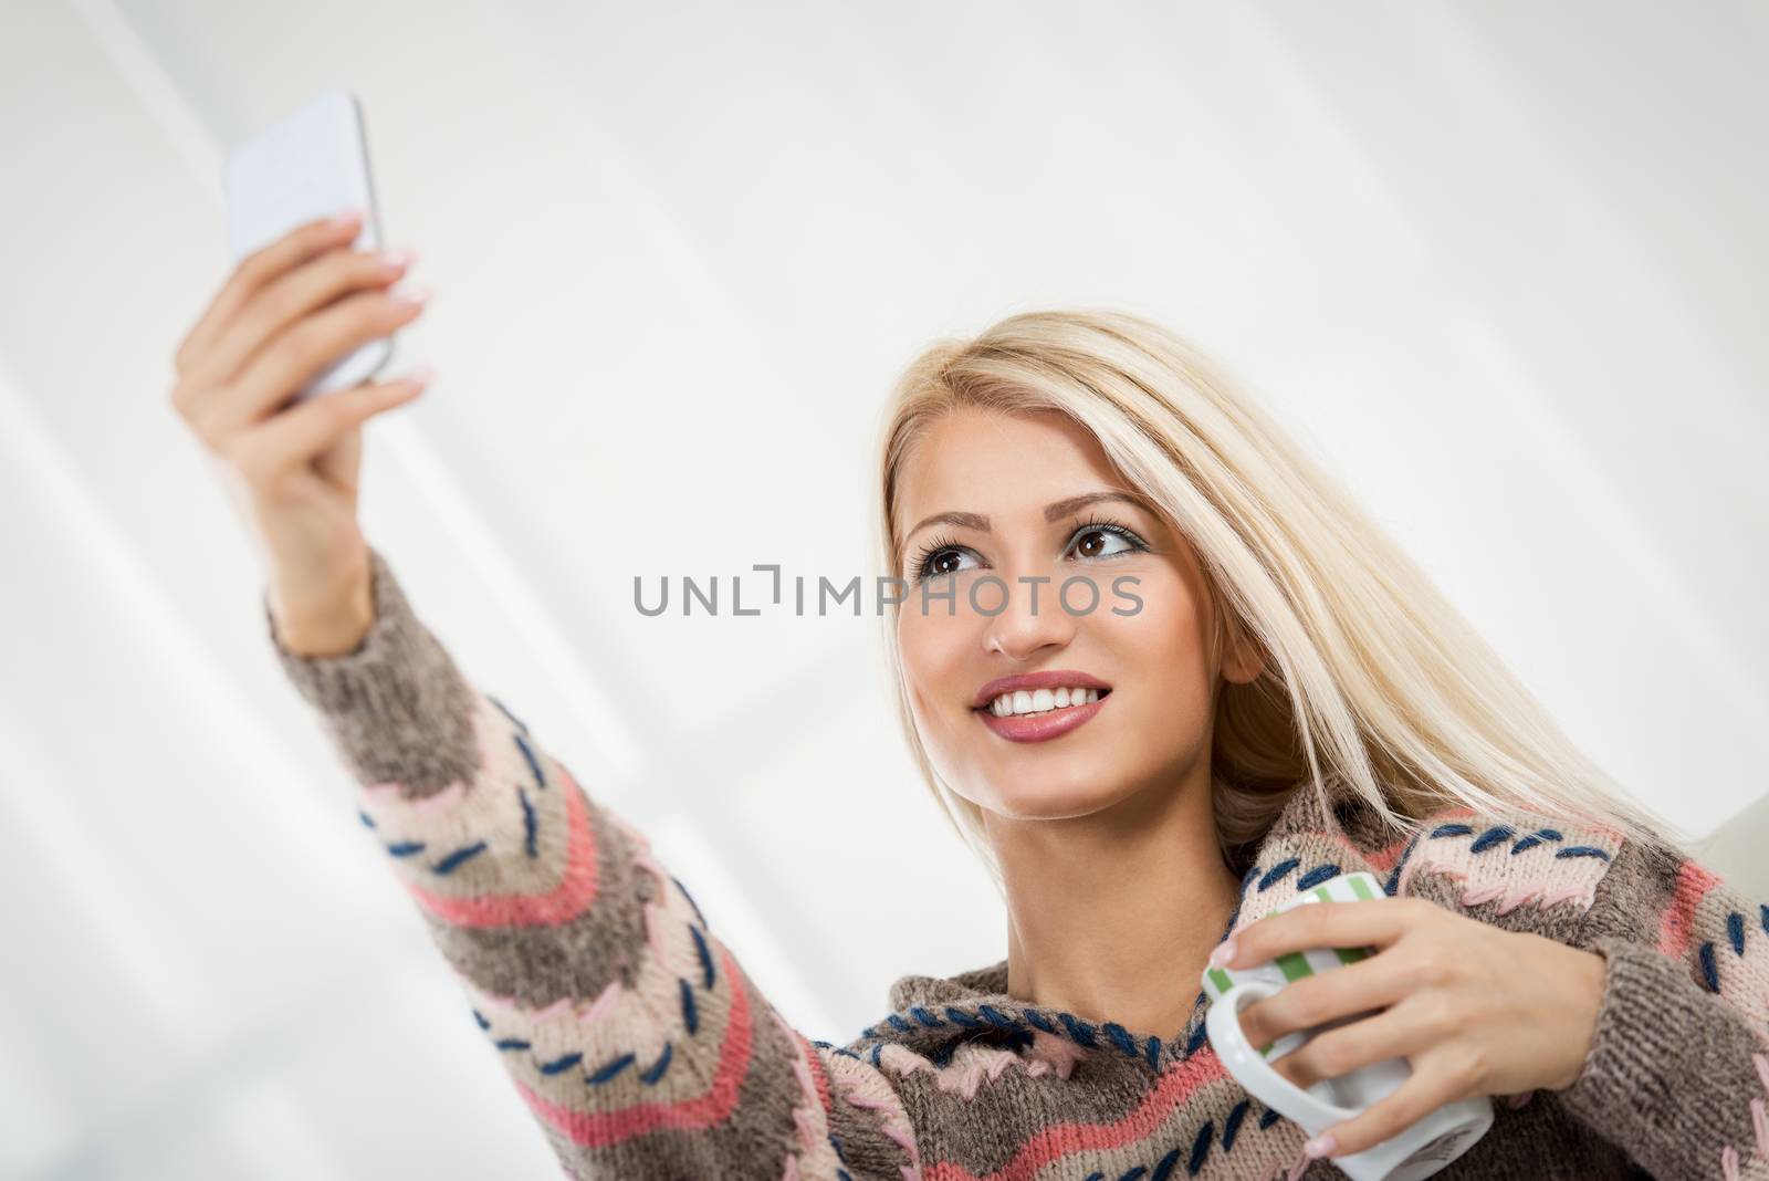
[[[276,656],[517,1093],[571,1177],[900,1181],[900,1096],[808,1041],[644,834],[476,690],[370,548],[356,651]]]

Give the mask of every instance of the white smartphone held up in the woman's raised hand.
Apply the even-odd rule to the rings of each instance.
[[[315,94],[294,113],[257,131],[228,154],[221,184],[234,262],[302,223],[345,209],[364,210],[352,246],[382,246],[375,186],[368,175],[363,104],[348,90]],[[391,355],[391,338],[371,339],[320,370],[294,400],[366,382],[386,368]]]

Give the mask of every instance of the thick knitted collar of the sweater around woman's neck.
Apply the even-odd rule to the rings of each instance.
[[[1221,939],[1327,877],[1378,872],[1366,854],[1380,842],[1375,813],[1355,794],[1297,787],[1261,838]],[[1155,1034],[1014,999],[1005,958],[953,976],[902,976],[890,987],[892,1013],[862,1031],[846,1052],[879,1064],[884,1048],[899,1045],[945,1066],[961,1045],[985,1041],[1031,1048],[1031,1057],[1056,1063],[1065,1075],[1063,1059],[1088,1054],[1123,1055],[1160,1071],[1191,1057],[1205,1040],[1208,999],[1199,981],[1183,987],[1198,990],[1191,1018],[1173,1034]]]

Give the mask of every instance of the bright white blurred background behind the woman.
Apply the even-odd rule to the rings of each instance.
[[[1026,308],[1217,354],[1769,898],[1764,12],[0,7],[0,1174],[555,1176],[168,403],[221,157],[325,87],[437,290],[370,539],[808,1036],[1005,955],[999,903],[876,619],[632,578],[869,571],[886,385]]]

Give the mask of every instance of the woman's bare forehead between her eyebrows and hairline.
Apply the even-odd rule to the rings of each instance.
[[[897,479],[902,525],[948,509],[987,513],[1111,488],[1106,451],[1090,430],[1056,410],[1005,414],[959,407],[923,428]]]

